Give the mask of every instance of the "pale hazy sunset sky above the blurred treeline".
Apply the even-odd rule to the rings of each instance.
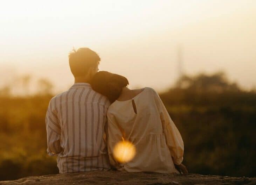
[[[184,73],[224,70],[256,86],[255,0],[9,0],[0,25],[0,84],[31,73],[64,90],[74,80],[69,51],[89,47],[100,70],[161,91],[178,77],[180,45]]]

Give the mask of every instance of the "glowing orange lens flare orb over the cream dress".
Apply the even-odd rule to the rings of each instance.
[[[136,155],[136,148],[130,141],[120,141],[113,149],[113,156],[119,163],[127,163]]]

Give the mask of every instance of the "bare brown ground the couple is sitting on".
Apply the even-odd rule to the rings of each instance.
[[[256,178],[90,171],[0,181],[0,185],[256,185]]]

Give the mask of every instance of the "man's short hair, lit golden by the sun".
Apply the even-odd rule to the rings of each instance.
[[[74,77],[84,76],[90,67],[96,67],[101,58],[89,48],[73,49],[69,53],[69,66]]]

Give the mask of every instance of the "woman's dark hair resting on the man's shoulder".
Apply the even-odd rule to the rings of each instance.
[[[122,88],[128,84],[129,81],[125,77],[108,71],[97,72],[91,80],[92,89],[106,96],[111,103],[116,101]]]

